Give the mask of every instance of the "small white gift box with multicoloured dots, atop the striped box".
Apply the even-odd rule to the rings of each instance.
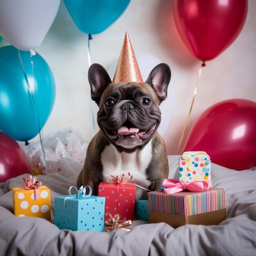
[[[203,151],[187,151],[179,158],[179,181],[206,181],[211,188],[211,159]]]

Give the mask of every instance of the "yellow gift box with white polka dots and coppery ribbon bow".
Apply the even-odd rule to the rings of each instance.
[[[13,214],[17,217],[30,216],[51,221],[51,196],[47,186],[30,175],[21,178],[24,186],[12,188]]]

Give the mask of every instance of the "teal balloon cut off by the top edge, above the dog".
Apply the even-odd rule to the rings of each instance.
[[[76,26],[86,34],[99,34],[121,16],[130,0],[64,0]]]

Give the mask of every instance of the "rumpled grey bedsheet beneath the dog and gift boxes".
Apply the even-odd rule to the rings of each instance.
[[[168,156],[177,179],[178,156]],[[54,197],[76,184],[80,162],[60,160],[61,172],[38,176]],[[11,188],[21,176],[0,183],[0,255],[256,255],[256,171],[234,171],[212,164],[212,186],[226,189],[227,220],[218,226],[136,220],[131,231],[110,233],[60,230],[51,222],[12,214]]]

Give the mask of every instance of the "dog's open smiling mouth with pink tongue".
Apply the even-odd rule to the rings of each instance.
[[[150,137],[151,133],[155,130],[156,124],[150,127],[147,130],[140,130],[138,128],[133,127],[131,124],[124,123],[120,128],[117,130],[108,130],[105,129],[106,134],[111,139],[119,139],[123,137],[134,137],[138,139],[147,139]]]

